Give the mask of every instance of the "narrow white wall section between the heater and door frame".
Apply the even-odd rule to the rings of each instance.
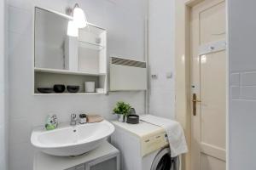
[[[174,118],[174,0],[150,0],[148,10],[148,55],[151,75],[149,113]],[[172,78],[166,78],[172,73]]]

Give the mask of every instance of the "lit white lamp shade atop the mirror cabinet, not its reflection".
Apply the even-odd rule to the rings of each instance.
[[[76,7],[73,9],[73,22],[78,28],[87,26],[87,21],[82,8]]]

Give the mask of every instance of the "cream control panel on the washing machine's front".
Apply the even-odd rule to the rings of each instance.
[[[167,146],[168,144],[169,143],[166,132],[153,133],[151,135],[145,136],[141,140],[142,156],[146,156],[155,150],[159,150],[160,148]]]

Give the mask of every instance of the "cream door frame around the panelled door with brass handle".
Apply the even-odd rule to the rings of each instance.
[[[175,115],[183,126],[189,150],[191,150],[190,110],[190,9],[205,0],[175,0]],[[230,78],[229,78],[229,1],[226,3],[226,170],[230,167]],[[190,170],[191,153],[182,159],[182,169]]]

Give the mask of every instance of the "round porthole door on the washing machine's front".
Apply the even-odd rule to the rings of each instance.
[[[155,156],[150,170],[177,170],[177,158],[171,157],[170,148],[164,148]]]

